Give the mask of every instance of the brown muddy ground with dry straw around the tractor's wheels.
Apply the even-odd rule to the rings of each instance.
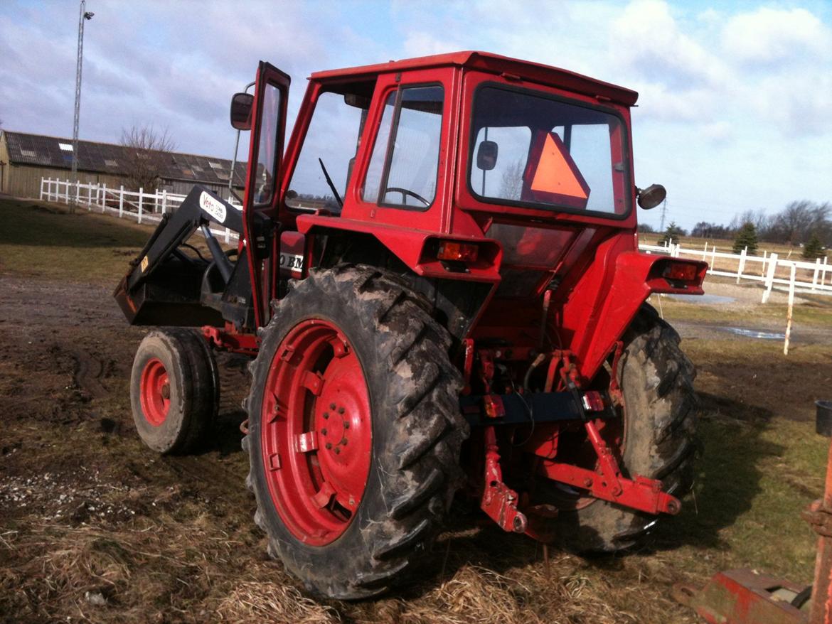
[[[156,456],[136,436],[128,399],[144,332],[126,325],[111,286],[0,275],[0,622],[696,622],[671,587],[754,563],[726,536],[766,487],[760,466],[788,458],[767,428],[783,417],[778,404],[798,400],[788,412],[803,426],[807,400],[830,383],[832,355],[798,354],[778,368],[726,343],[714,358],[709,331],[683,322],[717,455],[721,436],[748,440],[748,461],[725,467],[735,490],[709,498],[706,486],[725,474],[706,470],[686,506],[696,513],[666,523],[648,549],[600,560],[552,552],[548,569],[534,542],[459,513],[423,582],[374,602],[318,602],[266,557],[251,519],[239,430],[245,361],[220,361],[214,445]],[[828,338],[821,328],[804,348]],[[763,381],[773,368],[786,380],[777,387]],[[823,445],[815,450],[805,473],[822,464]],[[794,506],[797,516],[822,475],[785,473],[800,494],[785,513]],[[795,539],[780,568],[810,576],[812,539]]]

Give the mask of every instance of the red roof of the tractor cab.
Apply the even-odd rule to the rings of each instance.
[[[638,93],[617,87],[609,82],[595,80],[582,74],[569,72],[558,67],[542,65],[541,63],[521,61],[517,58],[502,57],[490,52],[449,52],[434,54],[429,57],[405,58],[401,61],[389,61],[376,65],[360,67],[345,67],[325,72],[314,72],[310,80],[317,82],[343,82],[344,79],[374,78],[379,74],[390,72],[406,72],[413,69],[428,69],[432,67],[464,67],[481,72],[504,74],[508,77],[519,78],[529,82],[552,87],[561,87],[567,91],[582,93],[595,97],[601,101],[612,101],[624,106],[632,106],[638,99]]]

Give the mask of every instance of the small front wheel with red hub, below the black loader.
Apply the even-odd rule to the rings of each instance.
[[[193,329],[155,329],[136,350],[130,380],[133,422],[158,453],[190,453],[205,439],[220,403],[214,354]]]

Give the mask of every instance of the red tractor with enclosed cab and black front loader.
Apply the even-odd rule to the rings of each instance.
[[[232,100],[242,210],[197,186],[116,289],[175,326],[136,354],[141,438],[195,448],[213,352],[249,355],[255,522],[328,597],[404,582],[454,496],[574,552],[678,513],[694,370],[645,301],[701,295],[706,264],[637,249],[636,201],[664,198],[633,183],[637,94],[482,52],[318,72],[284,151],[289,84],[261,62]]]

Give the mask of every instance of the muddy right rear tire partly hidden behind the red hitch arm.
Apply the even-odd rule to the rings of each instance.
[[[666,493],[682,498],[693,485],[698,448],[696,369],[679,348],[679,334],[649,305],[623,341],[622,472],[660,479]],[[660,518],[601,500],[578,503],[558,514],[557,542],[572,552],[617,552],[640,544]]]

